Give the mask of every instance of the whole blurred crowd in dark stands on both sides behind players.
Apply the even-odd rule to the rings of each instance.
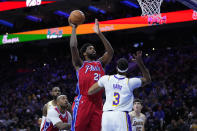
[[[131,55],[127,48],[115,48],[106,74],[116,72],[116,60]],[[143,56],[152,83],[136,89],[143,100],[146,131],[189,131],[197,125],[197,50],[194,47],[155,49]],[[43,58],[43,56],[45,56]],[[51,97],[49,91],[59,86],[70,103],[77,83],[70,52],[10,56],[0,64],[0,130],[36,131],[42,107]],[[130,62],[128,77],[140,76]]]

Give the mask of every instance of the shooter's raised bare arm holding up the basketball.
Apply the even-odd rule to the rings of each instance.
[[[70,37],[70,50],[72,54],[72,63],[75,69],[79,69],[79,67],[82,66],[83,61],[80,58],[79,51],[77,48],[77,35],[76,35],[76,29],[77,25],[74,25],[68,20],[70,26],[72,27],[72,34]]]

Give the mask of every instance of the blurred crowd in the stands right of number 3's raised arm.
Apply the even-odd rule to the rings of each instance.
[[[152,84],[139,89],[135,94],[135,97],[144,100],[146,130],[192,130],[197,124],[195,48],[158,50],[147,65]]]

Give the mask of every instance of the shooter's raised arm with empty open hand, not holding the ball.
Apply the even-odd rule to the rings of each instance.
[[[104,55],[101,58],[99,58],[99,61],[101,61],[101,63],[103,64],[103,67],[105,67],[105,65],[111,61],[113,54],[114,54],[114,50],[111,44],[109,43],[109,41],[105,38],[103,33],[100,31],[99,22],[97,19],[95,19],[94,31],[99,36],[99,38],[101,39],[105,47]]]

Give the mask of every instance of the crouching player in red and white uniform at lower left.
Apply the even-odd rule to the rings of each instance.
[[[40,127],[40,131],[70,130],[72,116],[66,109],[68,104],[67,96],[58,96],[56,102],[55,107],[48,109],[45,122]]]

